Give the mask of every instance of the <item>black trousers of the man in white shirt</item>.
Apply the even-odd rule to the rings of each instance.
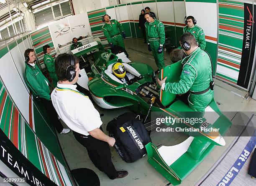
[[[92,137],[91,135],[85,136],[73,131],[75,139],[82,144],[88,152],[92,163],[100,170],[103,171],[110,179],[115,179],[118,172],[111,160],[110,147],[107,142],[101,141]]]

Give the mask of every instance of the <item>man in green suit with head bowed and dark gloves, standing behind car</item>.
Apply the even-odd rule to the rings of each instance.
[[[165,67],[163,52],[163,45],[165,41],[164,24],[161,21],[154,19],[153,15],[150,13],[146,13],[144,17],[147,20],[145,27],[148,51],[152,51],[154,55],[156,66],[158,67],[155,72],[157,74],[159,73],[159,70]]]

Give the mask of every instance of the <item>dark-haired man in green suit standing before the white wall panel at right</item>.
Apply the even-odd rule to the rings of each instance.
[[[189,32],[192,35],[194,35],[195,39],[197,40],[197,44],[200,47],[200,49],[205,50],[206,42],[205,42],[205,33],[197,26],[197,20],[191,15],[185,17],[184,20],[186,26],[183,28],[183,33]]]

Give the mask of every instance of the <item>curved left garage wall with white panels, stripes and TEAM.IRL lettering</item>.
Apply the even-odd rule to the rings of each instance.
[[[36,185],[36,178],[42,185],[71,186],[54,128],[25,83],[23,52],[31,47],[27,35],[0,48],[0,161],[28,184]]]

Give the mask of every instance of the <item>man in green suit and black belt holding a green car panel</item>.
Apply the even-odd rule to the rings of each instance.
[[[180,43],[187,57],[182,60],[183,69],[179,82],[165,82],[157,79],[161,89],[173,94],[184,94],[189,91],[189,107],[197,112],[205,111],[214,96],[212,64],[209,55],[197,46],[191,33],[184,33]]]

